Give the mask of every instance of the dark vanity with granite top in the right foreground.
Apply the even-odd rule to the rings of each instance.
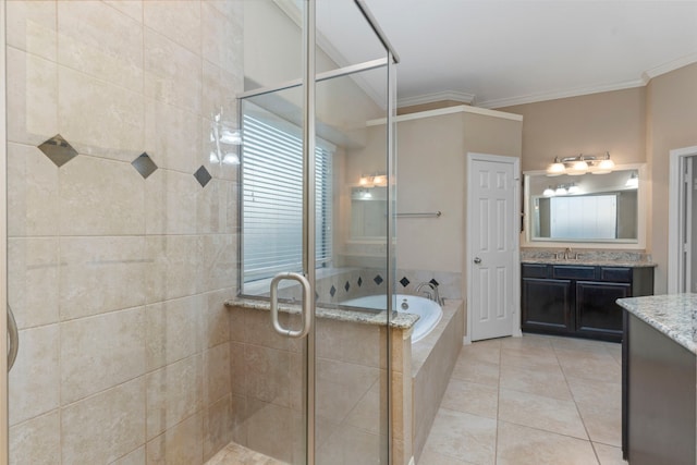
[[[622,451],[632,465],[696,463],[697,294],[619,301]]]

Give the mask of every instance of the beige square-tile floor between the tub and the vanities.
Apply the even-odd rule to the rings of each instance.
[[[626,465],[621,357],[530,334],[464,346],[418,465]]]

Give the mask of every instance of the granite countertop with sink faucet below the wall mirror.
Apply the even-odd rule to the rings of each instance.
[[[521,248],[521,261],[526,264],[568,261],[573,264],[617,265],[629,267],[652,267],[651,256],[639,250],[606,250],[573,248],[571,258],[563,258],[566,247],[560,248]]]

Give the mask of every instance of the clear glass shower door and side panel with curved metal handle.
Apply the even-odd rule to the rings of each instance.
[[[318,47],[317,73],[305,81],[314,90],[309,102],[299,81],[267,83],[241,99],[241,293],[270,298],[272,314],[278,299],[280,331],[268,314],[244,313],[247,340],[235,351],[239,362],[233,355],[246,378],[239,390],[247,406],[240,440],[286,463],[387,464],[394,274],[391,57],[352,0],[316,7],[318,34],[347,23],[372,44],[351,64]],[[305,131],[306,124],[313,129]],[[307,137],[310,170],[301,157]],[[376,201],[358,212],[364,193],[375,193]],[[311,286],[309,295],[301,277]],[[360,296],[378,297],[381,308],[346,310]],[[311,308],[305,319],[302,304]],[[366,316],[374,323],[363,322]],[[301,338],[289,338],[283,328]]]

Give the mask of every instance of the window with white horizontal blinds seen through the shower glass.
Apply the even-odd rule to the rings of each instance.
[[[243,117],[243,281],[303,267],[303,144],[299,129]],[[316,260],[331,261],[332,149],[317,144]]]

